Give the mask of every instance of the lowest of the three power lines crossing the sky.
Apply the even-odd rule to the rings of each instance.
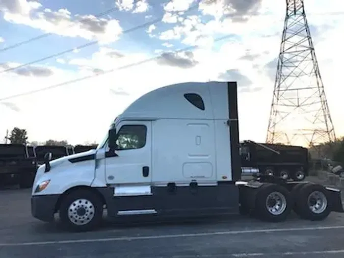
[[[225,36],[222,36],[222,37],[219,37],[219,38],[215,39],[214,42],[227,39],[227,38],[229,38],[231,36],[233,36],[233,34],[227,34]],[[196,46],[184,47],[182,49],[174,51],[174,54],[177,54],[177,53],[180,53],[180,52],[183,52],[183,51],[188,51],[188,50],[191,50],[191,49],[193,49],[195,47]],[[103,71],[100,74],[87,75],[87,76],[84,76],[82,78],[77,78],[77,79],[66,81],[66,82],[63,82],[63,83],[51,85],[51,86],[48,86],[48,87],[45,87],[45,88],[41,88],[41,89],[37,89],[37,90],[32,90],[32,91],[23,92],[23,93],[19,93],[19,94],[16,94],[16,95],[0,98],[0,101],[4,101],[4,100],[7,100],[7,99],[16,98],[16,97],[21,97],[21,96],[26,96],[26,95],[31,95],[31,94],[34,94],[34,93],[38,93],[38,92],[47,91],[47,90],[51,90],[51,89],[54,89],[54,88],[62,87],[62,86],[68,85],[68,84],[84,81],[84,80],[91,79],[91,78],[96,77],[96,76],[101,76],[103,74],[110,73],[110,72],[113,72],[113,71],[122,70],[122,69],[126,69],[126,68],[129,68],[129,67],[133,67],[133,66],[137,66],[137,65],[140,65],[140,64],[144,64],[144,63],[147,63],[149,61],[153,61],[154,59],[157,59],[157,58],[160,58],[160,57],[162,57],[162,55],[158,55],[158,56],[155,56],[155,57],[152,57],[152,58],[145,59],[145,60],[140,61],[140,62],[131,63],[131,64],[124,65],[124,66],[121,66],[121,67],[118,67],[118,68],[114,68],[114,69],[110,69],[110,70],[107,70],[107,71]]]

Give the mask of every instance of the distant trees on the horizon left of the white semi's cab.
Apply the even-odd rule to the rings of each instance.
[[[70,146],[67,141],[56,141],[49,139],[45,142],[37,142],[37,141],[28,141],[28,132],[25,129],[21,129],[19,127],[14,127],[10,133],[10,136],[7,137],[11,144],[31,144],[34,146],[37,145],[49,145],[49,146]],[[97,144],[88,144],[91,146],[96,146]]]

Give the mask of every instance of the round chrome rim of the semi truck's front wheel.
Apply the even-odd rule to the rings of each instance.
[[[86,225],[94,217],[94,205],[87,199],[74,200],[68,208],[68,218],[75,225]]]

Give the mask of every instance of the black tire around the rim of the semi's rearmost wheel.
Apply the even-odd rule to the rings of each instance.
[[[311,195],[316,192],[321,193],[320,197],[326,198],[326,200],[323,200],[324,207],[320,209],[319,213],[315,213],[314,211],[312,211],[309,208],[309,203],[308,203],[308,198],[311,197]],[[310,200],[310,202],[312,202],[312,200]],[[303,187],[301,187],[299,191],[299,197],[296,201],[296,207],[297,207],[299,216],[302,219],[307,219],[307,220],[313,220],[313,221],[324,220],[331,213],[330,199],[329,199],[327,190],[323,186],[316,185],[316,184],[306,184]]]

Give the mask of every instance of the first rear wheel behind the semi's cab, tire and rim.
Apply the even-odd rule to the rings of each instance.
[[[292,199],[287,189],[280,185],[268,184],[258,189],[255,213],[264,221],[284,221],[292,209]]]

